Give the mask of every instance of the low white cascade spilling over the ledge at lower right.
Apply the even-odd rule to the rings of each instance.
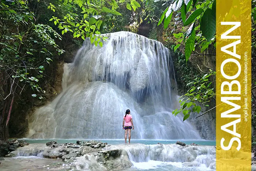
[[[176,167],[198,167],[200,170],[215,170],[216,149],[214,146],[181,147],[176,144],[138,144],[125,148],[133,167],[145,168],[152,165],[171,165]],[[147,165],[147,166],[146,166]],[[196,170],[197,170],[196,169]],[[172,169],[169,169],[172,170]],[[177,170],[174,168],[173,170]],[[179,169],[187,170],[187,169]]]

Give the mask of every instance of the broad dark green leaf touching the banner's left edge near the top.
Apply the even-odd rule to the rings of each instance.
[[[210,41],[216,33],[216,13],[212,9],[208,8],[204,12],[200,23],[200,29],[202,35],[206,40]]]

